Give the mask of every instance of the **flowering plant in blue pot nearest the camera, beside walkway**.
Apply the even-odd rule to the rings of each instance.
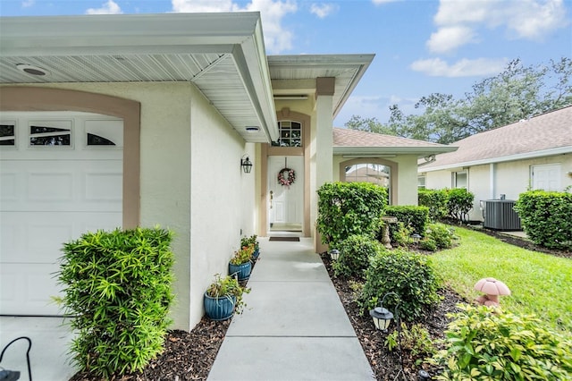
[[[226,320],[236,312],[240,314],[246,305],[242,294],[250,292],[242,287],[237,278],[231,275],[214,275],[214,282],[208,286],[203,298],[206,316],[213,320]]]

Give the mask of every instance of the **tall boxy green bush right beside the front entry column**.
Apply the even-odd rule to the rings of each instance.
[[[387,190],[369,182],[328,182],[318,193],[317,231],[323,243],[374,234],[387,205]]]

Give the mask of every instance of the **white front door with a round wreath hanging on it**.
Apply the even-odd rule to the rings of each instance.
[[[290,186],[278,182],[285,168],[294,170]],[[283,176],[288,179],[288,173]],[[304,157],[268,157],[268,222],[270,230],[302,230],[304,221]]]

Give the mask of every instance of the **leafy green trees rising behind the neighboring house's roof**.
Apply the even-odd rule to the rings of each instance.
[[[386,124],[353,115],[345,125],[355,130],[450,144],[571,104],[571,58],[537,66],[525,66],[516,59],[501,73],[476,82],[460,99],[436,92],[419,99],[415,105],[419,113],[406,115],[398,105],[392,105]]]

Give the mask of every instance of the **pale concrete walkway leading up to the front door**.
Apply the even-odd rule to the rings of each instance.
[[[209,381],[373,380],[312,241],[260,239],[260,259]]]

